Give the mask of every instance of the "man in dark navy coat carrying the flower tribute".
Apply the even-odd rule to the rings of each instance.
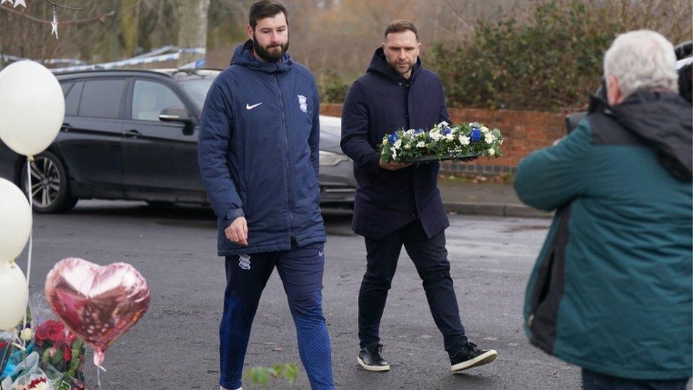
[[[420,48],[412,22],[390,23],[366,75],[351,85],[342,112],[342,150],[354,160],[358,183],[351,228],[366,241],[356,361],[369,371],[390,369],[379,327],[402,246],[423,281],[452,372],[496,359],[496,351],[481,350],[464,335],[445,249],[449,222],[437,189],[440,164],[383,163],[378,153],[386,133],[450,121],[440,80],[422,67]]]

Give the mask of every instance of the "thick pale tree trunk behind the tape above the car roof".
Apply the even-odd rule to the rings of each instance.
[[[207,11],[209,0],[178,0],[178,46],[181,49],[207,49]],[[204,58],[200,53],[180,53],[178,66]]]

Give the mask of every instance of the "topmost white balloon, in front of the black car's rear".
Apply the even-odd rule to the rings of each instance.
[[[65,97],[46,67],[24,60],[0,72],[0,139],[13,151],[24,156],[45,151],[63,119]]]

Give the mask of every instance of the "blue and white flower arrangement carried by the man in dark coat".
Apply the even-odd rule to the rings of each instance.
[[[421,163],[486,156],[502,156],[503,136],[475,122],[451,125],[446,121],[423,129],[398,130],[386,134],[381,143],[381,160],[386,163]]]

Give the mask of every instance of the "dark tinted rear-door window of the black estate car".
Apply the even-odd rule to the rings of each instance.
[[[117,119],[126,80],[87,80],[80,100],[80,117]]]

